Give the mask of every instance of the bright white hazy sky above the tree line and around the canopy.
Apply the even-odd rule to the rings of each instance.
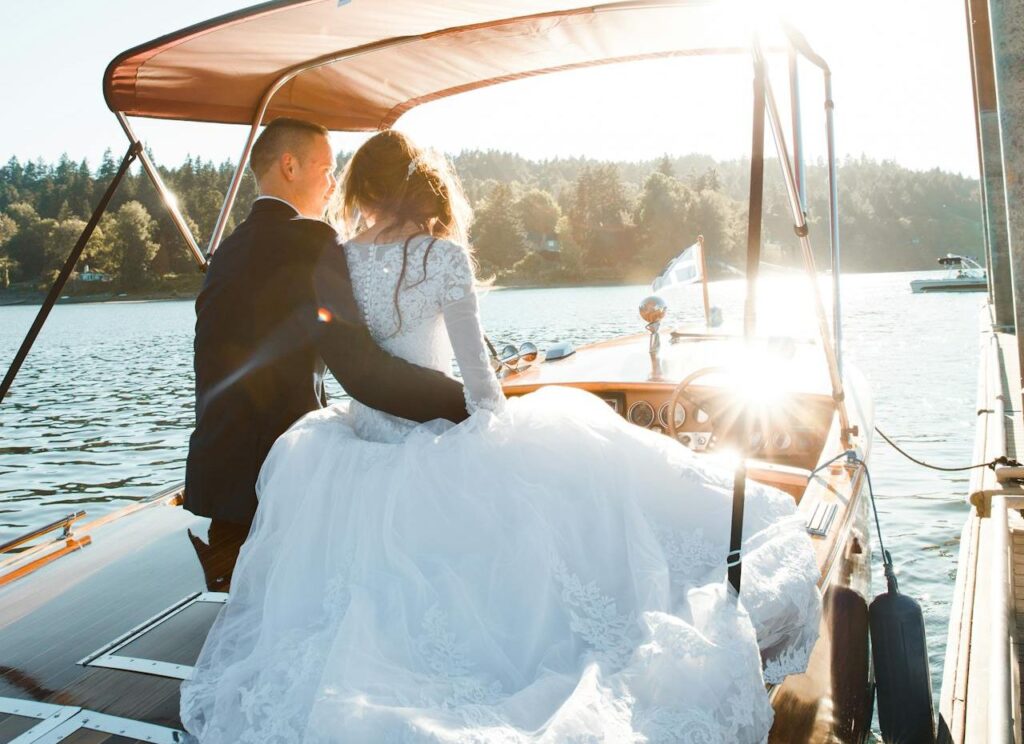
[[[784,6],[828,60],[841,157],[977,177],[964,0],[760,1]],[[251,4],[0,0],[0,71],[7,100],[17,103],[0,116],[0,162],[11,156],[53,161],[67,152],[95,165],[108,147],[121,154],[127,141],[101,92],[106,63],[131,46]],[[784,73],[784,60],[775,61]],[[814,160],[824,154],[821,86],[805,70],[804,127]],[[743,58],[609,65],[442,99],[395,126],[452,154],[496,148],[531,159],[632,161],[703,152],[726,160],[750,149],[750,78]],[[188,155],[233,160],[245,136],[244,128],[224,125],[133,125],[168,166]],[[335,143],[351,149],[366,136],[337,135]]]

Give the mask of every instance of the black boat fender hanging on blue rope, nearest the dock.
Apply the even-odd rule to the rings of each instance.
[[[892,558],[883,551],[888,590],[871,602],[868,623],[879,697],[879,726],[889,744],[933,744],[935,713],[925,616],[899,593]]]

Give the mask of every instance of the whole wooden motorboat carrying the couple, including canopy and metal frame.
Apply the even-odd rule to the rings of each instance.
[[[730,3],[705,0],[596,5],[505,0],[429,7],[394,0],[386,24],[381,12],[380,6],[337,0],[269,2],[120,55],[106,71],[104,93],[131,142],[121,173],[135,159],[142,161],[205,265],[207,256],[188,233],[128,116],[248,123],[244,164],[267,117],[304,116],[334,129],[372,130],[389,126],[418,103],[529,75],[658,56],[750,53],[755,106],[750,293],[742,329],[663,329],[665,308],[653,301],[643,309],[647,334],[579,349],[557,345],[544,354],[513,348],[497,363],[509,395],[547,385],[591,391],[635,425],[660,429],[708,457],[728,457],[732,450],[737,483],[756,479],[794,497],[813,536],[824,612],[807,672],[770,691],[771,740],[864,741],[872,707],[865,495],[871,406],[863,383],[842,368],[838,305],[835,338],[817,296],[820,339],[757,333],[753,300],[766,122],[783,165],[807,269],[815,271],[803,216],[799,126],[791,157],[760,36],[737,29]],[[788,27],[777,39],[795,57],[825,73],[830,141],[827,65]],[[424,59],[435,63],[425,65]],[[386,85],[369,84],[385,80]],[[796,83],[792,78],[791,85]],[[211,252],[241,172],[240,166]],[[835,207],[835,179],[830,187]],[[835,214],[831,225],[838,281]],[[78,253],[88,233],[87,228]],[[73,252],[71,267],[76,260]],[[53,299],[60,286],[58,278]],[[47,312],[44,305],[36,332]],[[0,398],[32,338],[30,333]],[[211,525],[181,509],[180,501],[181,487],[172,486],[99,519],[70,515],[0,546],[0,742],[186,740],[178,686],[225,601],[245,534]],[[741,495],[737,505],[741,524]],[[741,597],[733,570],[723,564],[723,580],[728,577]]]

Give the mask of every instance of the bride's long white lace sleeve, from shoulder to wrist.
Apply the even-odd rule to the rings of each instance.
[[[505,406],[505,394],[495,377],[483,341],[469,254],[450,243],[438,244],[435,248],[441,252],[441,311],[462,373],[466,409],[470,413],[480,408],[498,412]]]

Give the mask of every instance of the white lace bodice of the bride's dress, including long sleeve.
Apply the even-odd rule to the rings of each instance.
[[[447,375],[454,354],[469,412],[499,410],[505,398],[483,341],[468,252],[449,240],[418,235],[410,242],[402,271],[402,246],[345,245],[355,302],[371,335],[394,356]],[[357,401],[350,411],[356,433],[373,441],[401,441],[416,426]]]

